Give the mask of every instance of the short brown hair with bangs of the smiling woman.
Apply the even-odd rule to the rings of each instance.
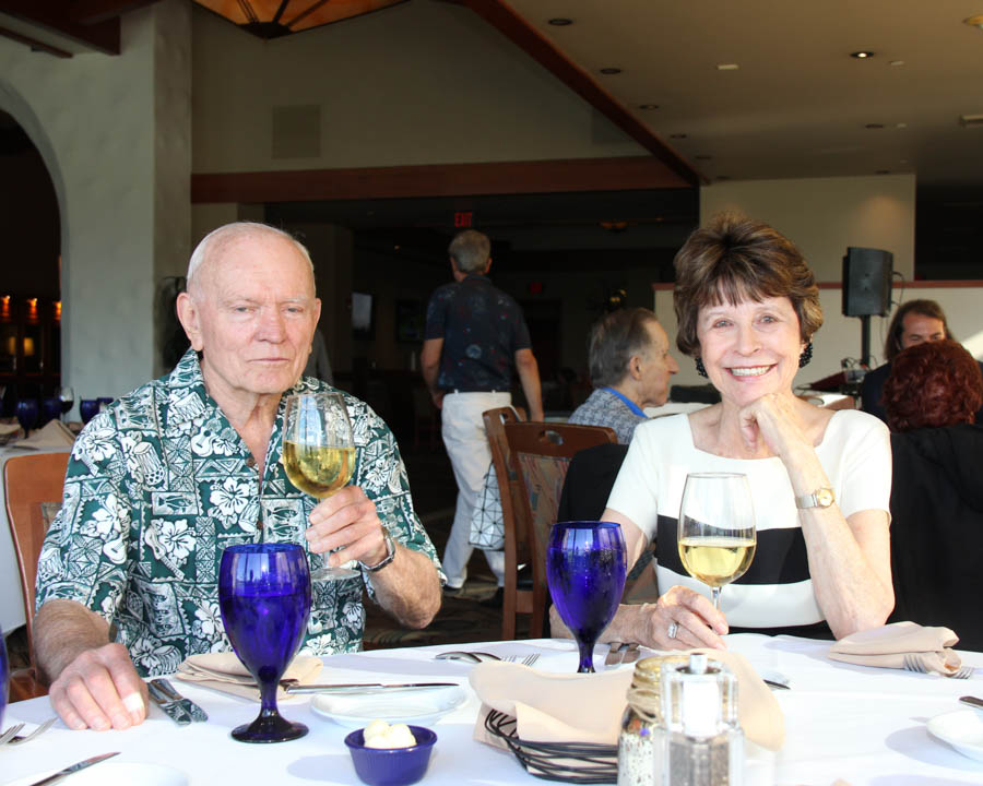
[[[722,300],[736,306],[748,298],[786,297],[798,317],[803,342],[822,324],[819,287],[802,252],[789,238],[763,222],[734,213],[714,216],[683,245],[673,264],[676,345],[700,356],[697,321],[700,309]]]

